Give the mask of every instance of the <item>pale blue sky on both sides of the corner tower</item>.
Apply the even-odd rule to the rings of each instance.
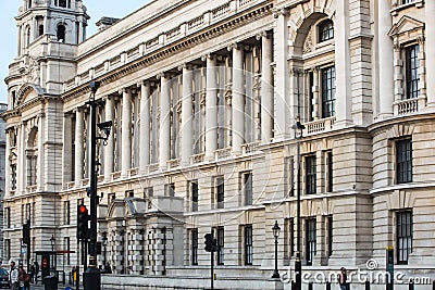
[[[90,16],[87,36],[97,31],[95,23],[102,16],[122,18],[150,2],[150,0],[83,0]],[[4,78],[8,76],[8,66],[16,56],[16,26],[14,16],[18,14],[21,0],[0,0],[0,102],[8,101],[8,90]]]

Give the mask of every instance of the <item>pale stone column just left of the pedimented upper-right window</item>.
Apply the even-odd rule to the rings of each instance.
[[[394,102],[394,62],[393,62],[393,39],[388,31],[391,28],[391,9],[390,0],[380,0],[377,2],[377,39],[378,39],[378,55],[380,55],[380,92],[378,92],[378,118],[385,118],[393,115]],[[338,70],[337,70],[338,71]],[[337,84],[339,84],[337,81]]]

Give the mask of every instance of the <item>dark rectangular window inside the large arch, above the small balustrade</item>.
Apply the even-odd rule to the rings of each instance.
[[[335,116],[335,67],[322,70],[322,117]]]

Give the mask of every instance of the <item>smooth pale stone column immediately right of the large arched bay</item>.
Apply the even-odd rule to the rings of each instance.
[[[349,48],[349,0],[336,2],[334,25],[335,40],[335,115],[337,126],[352,123],[352,98],[350,92],[350,48]],[[391,66],[388,68],[390,70]]]

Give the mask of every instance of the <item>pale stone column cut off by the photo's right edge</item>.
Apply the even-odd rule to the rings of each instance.
[[[424,1],[426,54],[426,97],[427,105],[435,106],[435,1]]]

